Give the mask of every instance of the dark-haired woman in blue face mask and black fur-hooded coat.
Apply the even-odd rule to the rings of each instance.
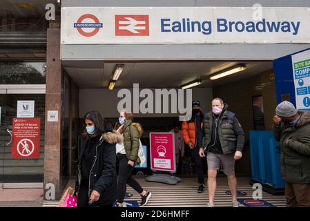
[[[112,207],[117,193],[115,144],[122,142],[122,135],[97,111],[85,115],[84,126],[75,185],[77,207]]]

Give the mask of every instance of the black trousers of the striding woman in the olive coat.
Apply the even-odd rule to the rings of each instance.
[[[140,184],[131,176],[133,166],[128,165],[126,154],[117,153],[117,164],[119,167],[117,180],[117,202],[122,203],[124,202],[126,195],[126,184],[131,186],[135,191],[137,191],[137,193],[142,193],[143,189]]]

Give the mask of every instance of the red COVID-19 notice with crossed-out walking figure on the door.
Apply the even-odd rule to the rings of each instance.
[[[12,158],[39,158],[40,118],[13,118]]]

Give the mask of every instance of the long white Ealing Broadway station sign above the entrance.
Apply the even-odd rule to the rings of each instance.
[[[310,43],[309,8],[61,8],[61,44]]]

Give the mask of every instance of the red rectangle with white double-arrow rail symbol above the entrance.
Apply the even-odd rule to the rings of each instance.
[[[148,15],[115,15],[115,36],[150,35]]]

